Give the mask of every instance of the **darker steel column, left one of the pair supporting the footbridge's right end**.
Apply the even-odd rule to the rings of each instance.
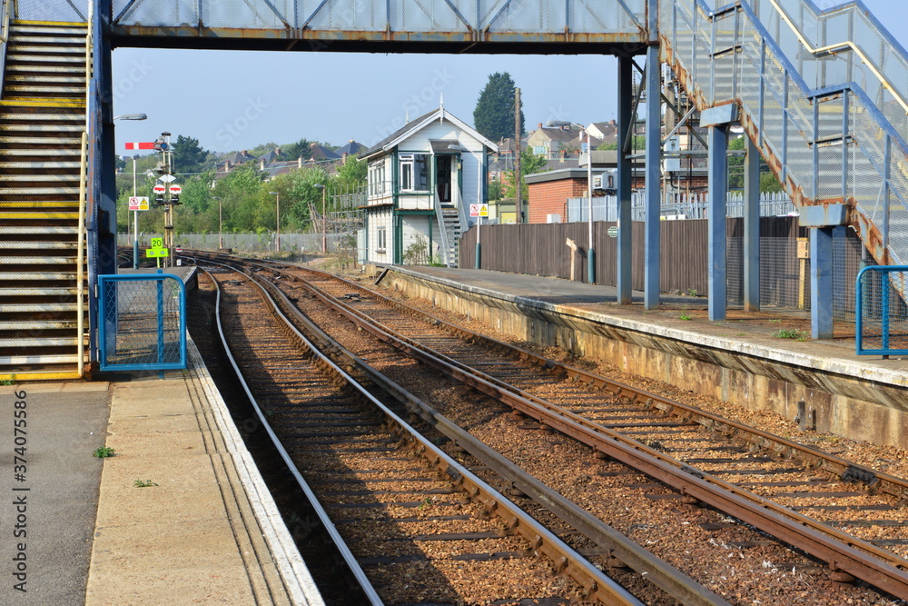
[[[618,57],[618,145],[623,146],[633,124],[631,109],[634,104],[633,63],[630,57]],[[625,150],[618,148],[617,154],[617,303],[631,303],[631,162]]]

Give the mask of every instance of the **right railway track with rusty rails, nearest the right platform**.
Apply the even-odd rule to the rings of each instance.
[[[341,313],[360,322],[358,330],[508,404],[525,417],[525,429],[572,436],[600,459],[625,462],[675,488],[682,502],[706,503],[749,522],[826,561],[834,581],[855,576],[906,595],[902,480],[420,317],[327,274],[255,268],[313,315],[342,301]],[[639,488],[650,497],[660,491],[652,483]]]

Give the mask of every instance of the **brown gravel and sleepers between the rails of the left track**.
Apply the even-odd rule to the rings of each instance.
[[[252,292],[250,286],[228,286],[227,290],[230,294],[225,299],[236,296],[242,303],[249,301]],[[250,316],[229,309],[228,317],[259,333],[270,318],[265,313]],[[277,334],[273,328],[271,334]],[[336,382],[309,373],[311,359],[285,353],[278,342],[272,336],[271,344],[255,348],[255,356],[246,352],[237,357],[257,369],[251,382],[271,390],[260,400],[269,421],[279,435],[291,436],[285,444],[294,462],[317,488],[383,601],[518,604],[532,597],[560,604],[579,595],[576,582],[556,575],[547,560],[532,555],[527,541],[509,535],[500,519],[490,518],[484,507],[470,503],[450,482],[439,480],[421,459],[397,448],[398,440],[390,433],[346,436],[370,423],[355,418],[338,422],[323,407],[311,414],[307,406],[318,409],[325,399],[341,402],[345,395]],[[288,367],[296,373],[288,373]],[[279,392],[281,377],[293,378],[302,395]],[[312,395],[312,386],[317,386],[318,394]],[[291,406],[297,408],[291,410]],[[346,401],[343,406],[356,408]],[[330,438],[331,432],[344,435]],[[478,536],[444,538],[465,532]]]

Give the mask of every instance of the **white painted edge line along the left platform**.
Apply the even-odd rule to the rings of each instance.
[[[242,442],[242,437],[227,410],[227,404],[223,401],[221,392],[215,387],[212,376],[202,360],[202,354],[189,335],[186,336],[186,353],[192,363],[192,369],[202,383],[202,391],[212,404],[215,421],[221,429],[224,443],[230,451],[233,464],[247,491],[252,511],[262,527],[262,534],[278,565],[291,600],[294,604],[324,606],[321,592],[312,580],[309,568],[303,561],[287,525],[283,522],[281,512],[278,511],[258,466],[252,460],[252,454]]]

